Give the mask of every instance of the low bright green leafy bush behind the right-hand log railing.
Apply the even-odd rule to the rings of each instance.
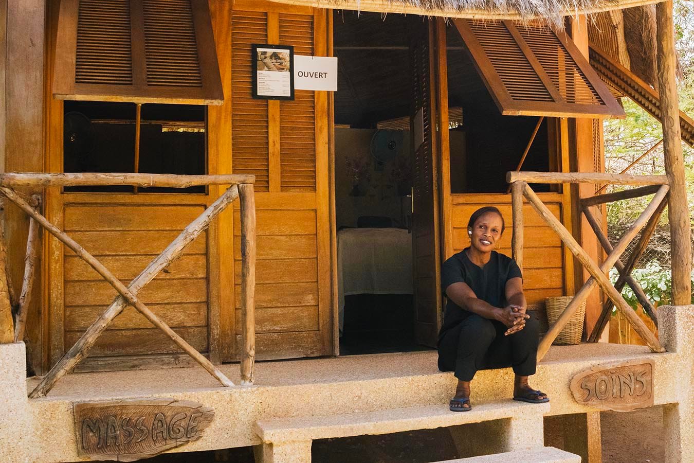
[[[667,305],[672,300],[672,281],[670,280],[670,271],[663,269],[658,262],[649,262],[643,269],[635,269],[632,271],[632,276],[638,284],[643,288],[643,292],[656,307],[658,305]],[[612,284],[616,283],[619,277],[619,272],[614,267],[609,271],[609,278]],[[694,273],[692,274],[692,287],[694,287]],[[632,309],[638,308],[638,300],[636,294],[629,285],[625,285],[622,290],[622,297],[632,306]],[[694,304],[694,294],[692,295],[692,303]],[[616,308],[612,309],[612,313],[616,312]]]

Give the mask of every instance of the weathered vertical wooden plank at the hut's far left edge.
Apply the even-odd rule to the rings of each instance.
[[[46,39],[45,0],[7,0],[5,171],[42,171],[44,169],[44,50]],[[12,285],[20,286],[24,276],[24,251],[28,219],[15,205],[5,210],[8,263]],[[40,369],[42,362],[42,297],[40,281],[29,308],[28,362]]]

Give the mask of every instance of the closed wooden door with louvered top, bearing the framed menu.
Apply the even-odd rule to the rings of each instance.
[[[326,10],[237,0],[231,15],[231,162],[255,174],[256,358],[332,355],[328,92],[296,90],[293,101],[251,97],[251,44],[286,44],[296,55],[327,53]],[[235,318],[240,339],[241,236],[233,224]],[[239,343],[236,343],[237,347]],[[236,360],[238,348],[223,355]]]

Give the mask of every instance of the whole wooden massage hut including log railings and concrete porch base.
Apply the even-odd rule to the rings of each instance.
[[[341,329],[395,327],[410,336],[400,350],[434,346],[443,307],[441,262],[466,246],[471,212],[496,205],[507,228],[514,228],[514,253],[523,260],[528,301],[541,311],[548,296],[581,294],[588,302],[586,334],[599,337],[609,311],[598,292],[588,294],[596,281],[610,298],[616,290],[601,276],[604,269],[591,262],[604,260],[609,269],[618,256],[605,256],[602,248],[608,246],[595,237],[604,220],[601,224],[599,214],[597,221],[584,219],[582,200],[594,196],[603,181],[645,181],[602,174],[601,121],[624,115],[616,96],[629,96],[665,121],[667,176],[646,180],[667,184],[658,187],[659,199],[669,188],[676,251],[673,303],[688,304],[691,244],[677,149],[680,137],[694,140],[694,129],[691,119],[677,112],[672,4],[650,3],[655,2],[582,0],[576,10],[566,11],[566,2],[556,0],[0,0],[5,171],[126,174],[107,176],[96,186],[71,183],[75,176],[33,176],[34,188],[27,194],[19,177],[0,176],[0,192],[12,199],[4,209],[8,279],[0,271],[0,343],[14,338],[10,303],[26,317],[15,344],[0,346],[3,361],[11,360],[0,390],[16,410],[11,417],[16,426],[0,428],[0,442],[10,441],[6,429],[22,436],[33,430],[31,439],[16,444],[16,455],[22,455],[17,461],[112,456],[94,442],[90,445],[99,448],[89,453],[87,438],[74,442],[76,432],[98,430],[90,419],[78,420],[88,408],[79,403],[87,398],[137,401],[145,394],[159,397],[156,406],[169,400],[160,397],[183,401],[185,396],[235,411],[218,413],[210,425],[210,410],[198,403],[196,419],[205,417],[199,428],[210,425],[210,434],[190,448],[257,445],[263,461],[310,461],[311,439],[349,435],[340,434],[337,425],[287,422],[282,428],[262,421],[323,416],[333,405],[355,413],[350,420],[356,421],[348,424],[357,434],[372,432],[373,423],[389,423],[387,429],[396,432],[467,422],[442,418],[428,408],[415,410],[423,417],[401,420],[400,410],[391,410],[393,391],[401,394],[398,407],[428,407],[448,395],[447,377],[435,371],[431,353],[398,357],[405,359],[402,364],[391,357],[332,358],[353,352],[341,351]],[[639,8],[643,14],[620,8]],[[655,28],[647,15],[654,8]],[[593,13],[596,22],[586,17]],[[632,40],[642,23],[650,24],[644,31],[655,31],[658,47],[639,54],[639,44],[645,49],[651,43],[641,35],[640,42]],[[337,57],[337,91],[294,88],[291,67],[301,60],[287,60],[290,53],[294,58]],[[265,76],[263,88],[260,71],[275,73]],[[514,174],[507,178],[507,171]],[[135,181],[127,174],[197,180],[173,189],[184,186],[183,180],[153,187],[154,180],[139,176]],[[180,258],[160,265],[160,276],[135,298],[126,283],[137,280],[201,212],[216,208],[220,198],[226,198],[223,205],[230,203],[233,195],[219,185],[220,178],[247,186],[253,181],[249,174],[255,178],[255,206],[246,202],[243,217],[238,204],[214,221],[208,216],[204,225],[209,228],[198,228],[200,234]],[[116,185],[119,178],[122,183]],[[509,192],[509,180],[515,194]],[[523,192],[530,200],[525,205]],[[39,212],[57,228],[36,222]],[[647,219],[639,219],[631,237]],[[568,232],[561,232],[564,228]],[[87,264],[81,248],[66,246],[58,229],[103,268]],[[253,230],[255,265],[249,264]],[[623,243],[616,247],[623,251]],[[501,251],[511,252],[510,233]],[[249,254],[251,259],[244,259]],[[255,293],[247,290],[254,274]],[[105,282],[105,275],[112,278]],[[359,281],[357,276],[364,275],[370,279]],[[589,276],[593,279],[584,285]],[[396,296],[355,298],[390,293]],[[114,300],[118,294],[122,298]],[[66,355],[109,303],[135,307],[112,317],[87,357]],[[145,303],[148,317],[142,315]],[[661,313],[668,353],[648,357],[643,349],[625,349],[609,358],[627,367],[634,358],[650,366],[652,394],[641,405],[666,407],[666,427],[677,435],[670,439],[668,455],[685,461],[693,455],[686,446],[694,432],[691,396],[660,386],[654,394],[652,382],[658,378],[659,384],[671,385],[675,371],[690,375],[683,384],[694,378],[691,351],[683,350],[691,348],[683,326],[693,314]],[[155,319],[173,328],[179,340],[174,343],[172,332],[155,328]],[[255,345],[248,336],[253,328]],[[549,343],[555,328],[545,337]],[[54,369],[51,385],[37,386],[32,400],[25,387],[46,379],[24,381],[22,340],[29,371],[41,376]],[[649,345],[654,352],[665,350],[655,340]],[[363,347],[357,350],[369,352]],[[477,421],[509,421],[504,428],[509,443],[502,448],[526,442],[542,446],[543,414],[550,413],[580,414],[584,444],[595,438],[590,423],[598,412],[573,401],[564,389],[565,382],[578,377],[577,368],[595,367],[602,357],[591,349],[569,352],[539,373],[540,380],[556,383],[549,389],[556,397],[552,410],[519,412],[514,404],[481,409],[484,416]],[[245,360],[241,380],[251,381],[253,355],[259,360],[331,358],[264,364],[269,376],[279,379],[265,378],[255,389],[209,389],[193,369],[135,371],[185,367],[189,353],[224,386],[231,382],[217,368]],[[56,373],[66,357],[71,366]],[[58,398],[33,400],[75,364],[76,371],[98,373],[73,376]],[[381,369],[368,371],[374,366]],[[495,374],[482,374],[484,398],[504,393]],[[175,378],[175,387],[169,377]],[[85,391],[93,378],[100,390]],[[308,410],[314,405],[310,401],[325,407]],[[47,416],[65,426],[49,428]],[[200,437],[197,427],[190,415],[187,439]],[[169,429],[178,434],[173,424]],[[287,435],[294,440],[286,440]],[[53,446],[56,441],[67,444]],[[118,455],[132,460],[151,453],[135,449]],[[594,458],[591,462],[598,461]]]

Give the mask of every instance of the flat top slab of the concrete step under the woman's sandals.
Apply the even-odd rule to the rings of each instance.
[[[255,432],[263,442],[277,444],[287,441],[390,434],[496,419],[543,416],[549,411],[549,403],[530,404],[509,399],[478,403],[473,405],[473,410],[469,412],[451,412],[448,410],[448,405],[428,405],[332,416],[267,419],[255,423]]]

